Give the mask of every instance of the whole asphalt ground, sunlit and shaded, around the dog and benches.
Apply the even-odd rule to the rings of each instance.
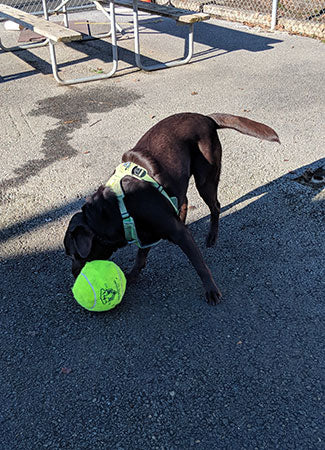
[[[325,44],[210,20],[190,64],[145,73],[130,15],[118,20],[106,81],[59,86],[45,47],[0,54],[0,447],[323,449],[325,196],[309,175],[325,165]],[[141,15],[151,60],[181,56],[183,33]],[[62,76],[110,70],[110,56],[109,41],[58,47]],[[118,307],[83,310],[63,250],[70,217],[147,129],[183,111],[243,115],[281,139],[219,133],[213,249],[190,184],[189,228],[223,302],[207,305],[163,242]],[[127,271],[135,252],[113,260]]]

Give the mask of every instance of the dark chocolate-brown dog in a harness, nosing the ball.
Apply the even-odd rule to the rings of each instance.
[[[133,217],[141,246],[128,281],[133,281],[145,266],[147,245],[160,239],[177,244],[187,255],[202,280],[208,303],[220,301],[221,293],[202,254],[185,226],[186,192],[193,175],[196,187],[211,212],[206,244],[214,245],[218,235],[220,203],[217,189],[221,168],[221,144],[217,130],[232,128],[241,133],[280,142],[272,128],[244,117],[229,114],[204,116],[195,113],[175,114],[153,126],[124,153],[123,162],[133,162],[178,200],[179,214],[151,183],[127,175],[121,181],[124,203]],[[127,245],[119,201],[111,188],[101,186],[75,214],[65,235],[66,253],[72,257],[76,277],[86,261],[108,259],[118,248]]]

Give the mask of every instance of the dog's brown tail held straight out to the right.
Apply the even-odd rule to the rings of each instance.
[[[208,117],[211,117],[216,122],[218,128],[232,128],[240,133],[280,144],[277,133],[263,123],[255,122],[246,117],[233,116],[232,114],[213,113],[209,114]]]

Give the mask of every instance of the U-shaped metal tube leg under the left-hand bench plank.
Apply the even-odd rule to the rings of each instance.
[[[53,75],[56,81],[62,85],[69,84],[77,84],[77,83],[85,83],[87,81],[96,81],[103,80],[105,78],[110,78],[114,75],[117,70],[118,64],[118,55],[117,55],[117,43],[116,43],[116,28],[115,28],[115,4],[114,2],[110,3],[110,21],[111,21],[111,32],[112,32],[112,47],[113,47],[113,67],[109,73],[102,73],[97,75],[92,75],[90,77],[82,77],[82,78],[72,78],[70,80],[63,80],[58,74],[57,62],[56,62],[56,54],[55,54],[55,45],[54,42],[49,41],[49,49],[50,49],[50,57]]]

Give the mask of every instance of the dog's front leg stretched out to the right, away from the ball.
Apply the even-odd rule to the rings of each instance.
[[[177,230],[170,236],[171,240],[177,244],[186,254],[205,288],[205,297],[208,303],[216,305],[221,301],[221,292],[215,284],[212,274],[206,265],[203,256],[197,247],[191,233],[182,222],[178,222]]]

